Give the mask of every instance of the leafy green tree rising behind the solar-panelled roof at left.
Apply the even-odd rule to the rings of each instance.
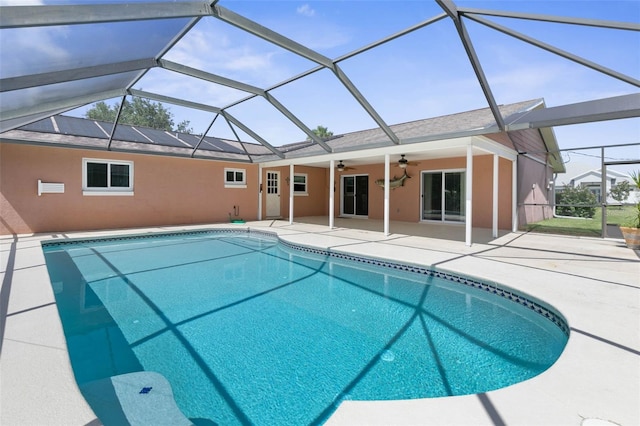
[[[109,107],[105,102],[98,102],[89,109],[85,116],[92,120],[115,121],[120,104]],[[189,121],[184,120],[174,129],[173,114],[160,102],[134,97],[132,102],[124,101],[120,113],[120,123],[131,126],[144,126],[153,129],[192,133]]]

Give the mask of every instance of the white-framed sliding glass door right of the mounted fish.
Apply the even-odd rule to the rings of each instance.
[[[464,222],[465,172],[422,172],[422,220]]]

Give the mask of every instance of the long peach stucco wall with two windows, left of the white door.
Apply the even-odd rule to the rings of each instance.
[[[134,163],[133,196],[83,196],[83,158]],[[224,187],[224,168],[246,170],[246,188]],[[37,181],[65,184],[37,194]],[[258,166],[177,157],[0,144],[0,234],[224,222],[258,213]]]

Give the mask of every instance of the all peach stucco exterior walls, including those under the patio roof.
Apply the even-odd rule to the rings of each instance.
[[[133,196],[85,196],[82,191],[84,158],[126,160],[134,163]],[[493,208],[493,155],[476,155],[473,172],[473,226],[490,228]],[[519,193],[525,203],[547,202],[543,184],[549,172],[544,166],[521,157]],[[225,167],[243,169],[246,188],[225,188]],[[410,179],[403,187],[390,191],[390,220],[421,220],[421,172],[460,170],[466,158],[420,161],[409,166]],[[498,227],[511,227],[512,162],[499,159]],[[280,215],[289,216],[289,167],[263,167],[266,172],[280,172]],[[42,147],[21,144],[0,145],[0,233],[28,234],[145,226],[183,225],[226,222],[232,218],[254,220],[258,216],[258,197],[262,196],[262,217],[266,217],[266,191],[259,194],[257,164],[218,162],[177,157],[104,152],[83,149]],[[329,182],[330,171],[320,167],[295,166],[294,173],[307,175],[307,194],[295,195],[294,218],[324,216],[329,208],[329,194],[335,186],[335,215],[340,214],[340,173],[335,185]],[[369,215],[384,217],[384,190],[375,184],[384,178],[384,164],[357,166],[342,173],[369,176]],[[392,165],[391,176],[403,171]],[[37,180],[62,182],[64,194],[37,195]],[[291,181],[290,181],[291,182]],[[533,183],[537,189],[531,191]],[[543,207],[520,209],[520,223],[550,217]]]

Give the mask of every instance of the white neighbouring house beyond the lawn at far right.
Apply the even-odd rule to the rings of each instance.
[[[566,170],[566,173],[558,175],[556,178],[556,192],[562,191],[562,189],[567,186],[574,188],[577,186],[584,186],[589,188],[589,191],[596,196],[598,203],[602,202],[602,169],[594,169],[586,164],[568,163],[566,165]],[[640,201],[640,191],[635,189],[635,184],[629,174],[619,172],[611,167],[607,167],[606,170],[605,192],[607,194],[607,204],[620,203],[619,201],[614,200],[609,195],[609,192],[611,191],[611,188],[622,181],[629,182],[632,188],[632,192],[629,194],[627,199],[622,202],[622,204],[636,204]]]

